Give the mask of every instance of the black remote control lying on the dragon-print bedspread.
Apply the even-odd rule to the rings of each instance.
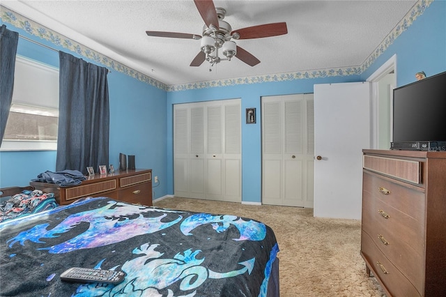
[[[123,271],[82,267],[72,267],[61,274],[61,280],[65,282],[102,282],[104,284],[119,284],[124,277]]]

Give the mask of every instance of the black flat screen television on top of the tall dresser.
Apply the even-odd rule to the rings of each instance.
[[[446,150],[429,147],[446,145],[446,72],[394,89],[392,138],[391,149]]]

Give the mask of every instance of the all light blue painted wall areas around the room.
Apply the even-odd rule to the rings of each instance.
[[[393,54],[397,54],[397,82],[401,86],[415,81],[424,70],[433,75],[446,70],[446,1],[433,1],[423,15],[399,36],[360,77],[298,79],[165,92],[122,73],[109,73],[110,163],[118,165],[118,153],[136,155],[137,167],[152,168],[160,178],[154,197],[172,195],[173,185],[173,105],[181,102],[241,98],[242,114],[247,107],[257,110],[257,123],[242,126],[243,201],[261,201],[261,112],[262,96],[312,93],[314,84],[356,82],[367,79]],[[8,29],[45,43],[25,31],[6,24]],[[54,28],[55,29],[55,28]],[[63,50],[63,49],[60,49]],[[19,54],[58,66],[57,52],[19,40]],[[70,53],[73,54],[73,53]],[[88,60],[87,60],[88,61]],[[243,123],[243,121],[242,121]],[[56,153],[0,152],[0,187],[26,185],[40,172],[54,170]]]

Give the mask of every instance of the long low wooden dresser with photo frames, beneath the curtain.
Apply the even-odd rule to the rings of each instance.
[[[53,192],[59,204],[81,197],[110,197],[134,204],[152,206],[152,169],[128,169],[112,174],[86,176],[79,185],[59,187],[54,183],[29,183],[37,190]]]

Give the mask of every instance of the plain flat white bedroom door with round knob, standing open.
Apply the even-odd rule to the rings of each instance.
[[[370,148],[370,83],[314,85],[314,216],[361,218],[362,149]]]

